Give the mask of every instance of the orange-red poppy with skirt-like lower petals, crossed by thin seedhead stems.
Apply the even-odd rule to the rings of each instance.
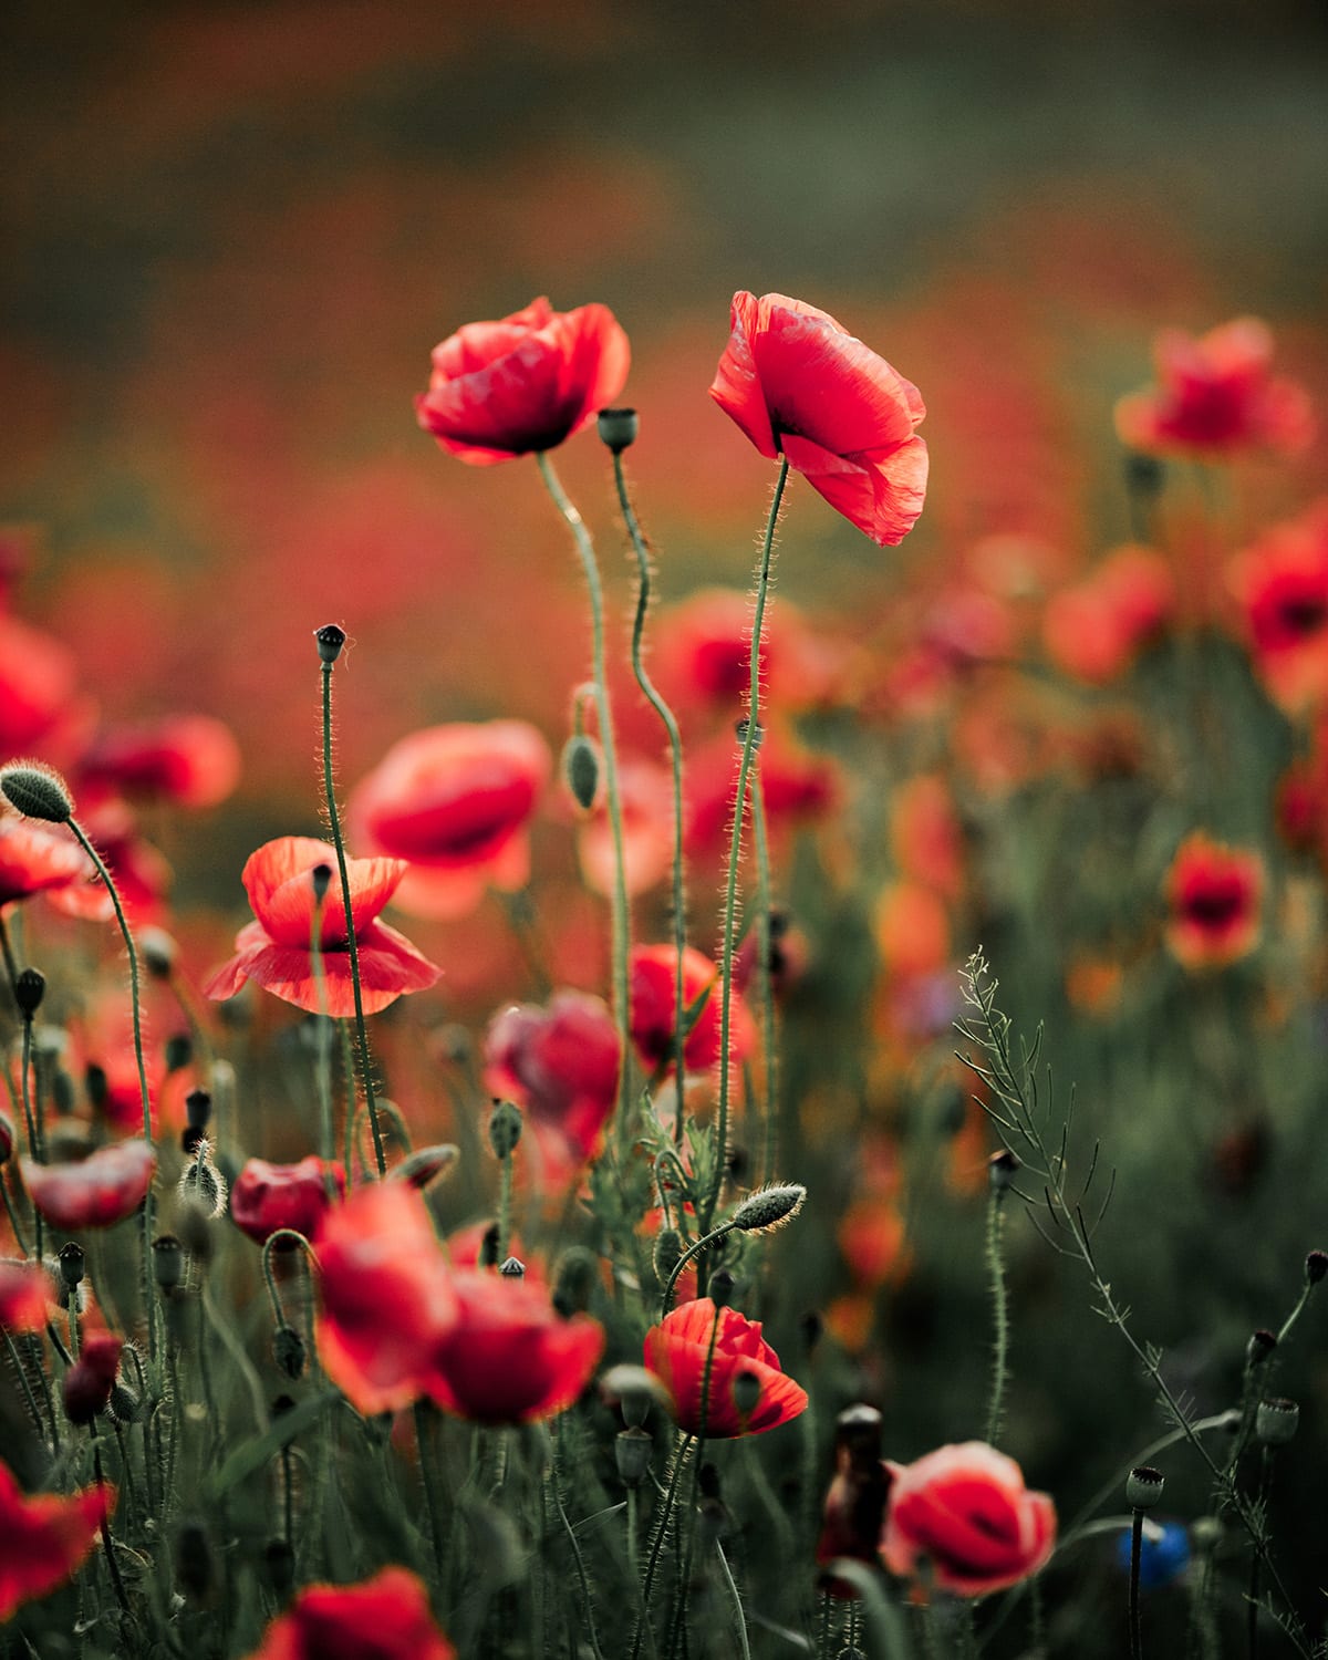
[[[327,1013],[335,1018],[345,1019],[355,1013],[337,850],[329,842],[302,835],[266,842],[246,860],[241,880],[257,921],[241,928],[236,956],[204,984],[209,998],[234,998],[246,979],[256,979],[297,1009],[320,1013],[324,1004],[309,950],[315,910],[312,872],[319,865],[332,872],[322,901],[322,998]],[[405,991],[432,986],[442,974],[403,935],[378,921],[378,911],[397,891],[405,870],[403,858],[347,860],[365,1014],[377,1014]]]

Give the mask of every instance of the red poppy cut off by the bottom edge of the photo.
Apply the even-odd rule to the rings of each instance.
[[[385,1567],[360,1585],[305,1585],[249,1660],[456,1660],[423,1580]]]

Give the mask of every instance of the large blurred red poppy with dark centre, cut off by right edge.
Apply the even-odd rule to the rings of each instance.
[[[1328,500],[1277,525],[1228,571],[1255,669],[1291,714],[1328,696]]]

